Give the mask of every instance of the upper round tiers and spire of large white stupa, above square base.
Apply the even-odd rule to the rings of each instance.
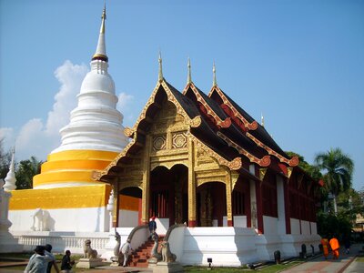
[[[42,173],[34,177],[34,188],[95,184],[91,172],[106,167],[106,161],[108,164],[127,144],[123,115],[116,110],[114,80],[107,73],[105,8],[101,18],[96,53],[77,96],[78,105],[71,112],[70,123],[60,130],[61,146],[52,151]]]

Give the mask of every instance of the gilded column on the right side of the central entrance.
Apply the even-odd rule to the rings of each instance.
[[[188,227],[196,227],[195,147],[188,138]]]

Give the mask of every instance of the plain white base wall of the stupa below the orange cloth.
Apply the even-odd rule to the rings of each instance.
[[[106,232],[109,229],[109,216],[106,207],[45,209],[43,230],[73,232]],[[10,210],[11,231],[38,230],[35,209]]]

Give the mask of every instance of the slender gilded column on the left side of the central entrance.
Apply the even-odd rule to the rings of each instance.
[[[151,137],[146,136],[146,147],[144,149],[144,162],[143,162],[143,192],[142,192],[142,224],[149,222],[148,208],[150,197],[150,146]]]

